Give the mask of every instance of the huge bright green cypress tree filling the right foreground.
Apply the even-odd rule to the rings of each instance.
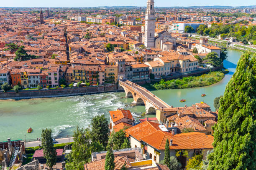
[[[209,170],[256,169],[256,55],[248,52],[220,99]]]

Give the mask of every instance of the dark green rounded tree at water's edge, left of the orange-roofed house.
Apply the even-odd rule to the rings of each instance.
[[[92,130],[92,141],[99,142],[106,147],[108,145],[108,135],[110,130],[108,128],[108,120],[106,119],[105,115],[93,117],[90,128]]]

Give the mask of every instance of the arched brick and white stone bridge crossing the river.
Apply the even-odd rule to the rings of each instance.
[[[133,98],[133,103],[136,105],[145,105],[146,113],[155,113],[156,110],[162,111],[166,108],[171,108],[166,102],[159,97],[148,91],[146,88],[141,87],[131,81],[119,81],[120,87],[125,91],[125,97]]]

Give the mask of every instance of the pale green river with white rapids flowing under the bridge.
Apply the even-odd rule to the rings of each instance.
[[[228,50],[228,59],[224,67],[230,72],[217,84],[192,89],[156,90],[152,91],[167,104],[174,107],[206,102],[213,107],[215,97],[223,95],[225,86],[236,70],[236,64],[241,52]],[[205,93],[207,96],[201,97]],[[40,137],[42,129],[51,128],[53,135],[71,135],[76,126],[87,128],[96,115],[104,114],[109,120],[109,110],[125,108],[138,117],[145,112],[144,106],[130,106],[132,98],[125,97],[124,92],[108,92],[93,95],[72,97],[54,97],[30,100],[1,100],[0,101],[0,141],[35,139]],[[180,99],[186,99],[184,103]],[[154,115],[147,115],[154,117]],[[33,132],[26,133],[28,128]]]

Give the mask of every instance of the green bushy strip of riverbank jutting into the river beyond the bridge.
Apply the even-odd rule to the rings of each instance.
[[[155,88],[156,90],[204,87],[220,82],[220,80],[222,80],[224,76],[225,74],[223,73],[223,71],[215,71],[200,76],[183,77],[182,79],[178,78],[167,81],[162,79],[160,82],[150,84],[150,86],[151,88]]]

